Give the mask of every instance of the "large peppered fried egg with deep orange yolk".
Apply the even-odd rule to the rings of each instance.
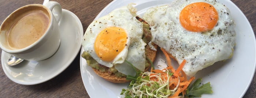
[[[165,49],[183,71],[197,71],[230,59],[235,46],[235,23],[229,9],[215,0],[174,0],[150,8],[143,17],[151,24],[152,42]]]

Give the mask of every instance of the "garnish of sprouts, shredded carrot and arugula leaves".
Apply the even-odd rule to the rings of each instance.
[[[193,98],[201,97],[201,94],[212,93],[209,82],[199,87],[201,78],[190,86],[195,78],[188,79],[185,72],[182,71],[186,60],[183,60],[175,70],[171,66],[171,59],[167,52],[162,48],[161,50],[166,56],[168,67],[162,70],[151,67],[150,72],[136,72],[134,77],[127,76],[126,79],[131,82],[127,89],[122,89],[121,95],[125,95],[125,98]],[[126,61],[126,63],[129,62]]]

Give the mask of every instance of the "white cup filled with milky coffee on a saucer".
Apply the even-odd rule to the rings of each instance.
[[[48,59],[60,45],[61,16],[62,7],[55,1],[18,8],[0,26],[0,48],[24,60]]]

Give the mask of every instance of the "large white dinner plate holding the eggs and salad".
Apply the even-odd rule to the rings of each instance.
[[[168,4],[172,0],[114,0],[108,4],[97,18],[107,15],[115,8],[136,3],[137,14],[143,15],[149,8],[156,5]],[[234,55],[225,62],[217,62],[214,65],[199,71],[196,78],[203,78],[201,83],[211,82],[213,94],[203,94],[202,98],[240,98],[243,97],[251,84],[256,65],[256,41],[252,27],[241,10],[230,0],[218,0],[231,11],[235,19],[237,45],[234,48]],[[81,50],[81,53],[84,50]],[[155,61],[161,63],[163,56],[157,55]],[[176,63],[177,66],[177,63]],[[128,83],[115,84],[97,76],[92,68],[86,65],[85,59],[80,57],[80,68],[82,80],[87,93],[92,98],[119,98],[122,88],[126,88]]]

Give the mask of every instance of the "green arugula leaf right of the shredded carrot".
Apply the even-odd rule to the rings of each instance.
[[[210,82],[205,83],[199,87],[201,82],[201,78],[197,79],[189,88],[186,90],[186,97],[193,98],[193,97],[201,97],[202,94],[212,94],[212,87]]]

